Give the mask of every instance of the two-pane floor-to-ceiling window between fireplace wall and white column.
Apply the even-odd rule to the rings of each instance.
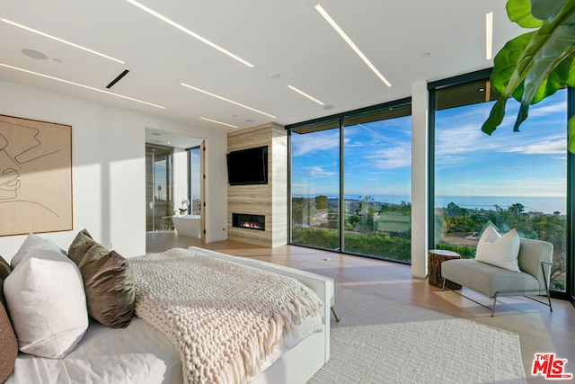
[[[409,100],[288,129],[291,243],[409,263]]]

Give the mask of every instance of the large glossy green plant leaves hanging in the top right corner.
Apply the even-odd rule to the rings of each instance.
[[[562,8],[555,17],[546,17],[551,17],[551,21],[544,20],[541,28],[530,34],[530,40],[518,56],[517,49],[524,44],[522,39],[525,39],[526,35],[511,40],[514,42],[510,41],[498,53],[500,60],[496,57],[491,84],[500,92],[500,99],[491,109],[488,120],[483,123],[482,130],[485,133],[491,135],[503,121],[509,96],[513,95],[521,100],[514,126],[514,130],[518,130],[519,125],[527,118],[529,105],[554,94],[564,85],[575,85],[575,71],[571,70],[575,57],[575,24],[572,23],[575,20],[575,0],[548,1],[554,5],[562,3]],[[518,0],[509,2],[519,4]],[[534,8],[535,5],[541,8],[541,0],[532,0],[531,3]],[[550,8],[554,9],[553,6]],[[515,57],[517,61],[514,66],[511,61]],[[510,67],[513,69],[510,70]]]

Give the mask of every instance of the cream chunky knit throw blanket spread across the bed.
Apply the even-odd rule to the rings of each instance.
[[[244,383],[323,302],[296,279],[187,249],[130,258],[136,314],[179,350],[186,383]],[[321,325],[321,322],[320,322]]]

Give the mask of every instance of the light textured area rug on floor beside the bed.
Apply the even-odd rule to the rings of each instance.
[[[331,358],[311,384],[526,383],[519,336],[336,287]]]

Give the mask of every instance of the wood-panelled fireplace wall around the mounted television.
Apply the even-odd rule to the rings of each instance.
[[[227,237],[258,246],[288,243],[288,133],[276,123],[227,135],[227,151],[268,146],[268,183],[227,186]],[[266,230],[232,227],[232,213],[265,215]]]

